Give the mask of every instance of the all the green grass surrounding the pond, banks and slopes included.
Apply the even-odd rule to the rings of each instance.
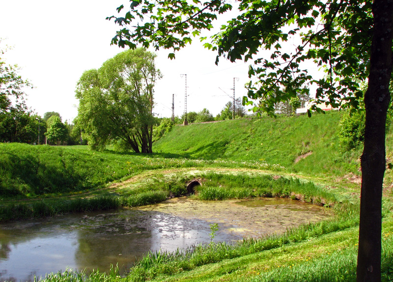
[[[184,195],[186,183],[198,178],[195,199],[291,197],[330,206],[335,216],[235,245],[146,254],[126,277],[114,268],[90,275],[67,270],[47,281],[354,281],[360,187],[349,178],[360,175],[361,148],[340,152],[340,115],[176,126],[151,155],[0,144],[0,221],[159,202]],[[392,140],[389,130],[388,163]],[[385,187],[392,180],[387,169]],[[384,195],[385,282],[393,280],[392,190]]]

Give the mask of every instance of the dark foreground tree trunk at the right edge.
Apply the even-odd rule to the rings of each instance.
[[[393,1],[375,0],[370,74],[365,93],[365,146],[360,201],[357,282],[381,281],[382,183],[385,126],[392,73]]]

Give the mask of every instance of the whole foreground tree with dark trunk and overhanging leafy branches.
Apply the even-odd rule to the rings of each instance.
[[[392,0],[235,0],[238,16],[212,36],[207,48],[231,61],[252,60],[245,103],[274,114],[274,105],[295,98],[307,83],[318,86],[317,102],[357,108],[366,82],[365,142],[361,159],[362,187],[357,280],[380,281],[381,207],[385,172],[385,123],[392,74]],[[117,8],[122,12],[123,5]],[[202,29],[232,9],[225,0],[132,0],[130,9],[115,18],[121,26],[112,39],[120,47],[138,44],[175,51],[192,42]],[[149,21],[145,21],[149,19]],[[301,43],[281,48],[290,36]],[[205,39],[205,38],[202,38]],[[260,56],[258,51],[270,50]],[[266,54],[266,53],[261,53]],[[302,62],[325,66],[316,80]],[[294,91],[283,91],[283,89]],[[297,90],[297,91],[296,91]],[[254,102],[256,101],[256,102]],[[316,106],[312,110],[321,111]],[[310,114],[311,112],[309,112]]]

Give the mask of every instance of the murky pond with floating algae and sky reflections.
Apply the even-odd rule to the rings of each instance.
[[[329,217],[324,208],[289,199],[197,201],[187,197],[132,209],[0,224],[0,281],[73,270],[124,274],[147,251],[169,252],[214,241],[258,237]]]

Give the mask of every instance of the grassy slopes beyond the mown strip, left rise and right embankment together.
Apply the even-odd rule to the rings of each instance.
[[[358,177],[362,148],[340,151],[337,133],[341,114],[174,126],[154,143],[154,154],[93,152],[86,146],[3,143],[0,144],[0,197],[84,191],[146,169],[181,167],[276,170],[284,167],[287,172],[315,177]],[[389,131],[388,159],[393,158],[391,140]],[[391,174],[391,169],[387,169],[389,183]]]

